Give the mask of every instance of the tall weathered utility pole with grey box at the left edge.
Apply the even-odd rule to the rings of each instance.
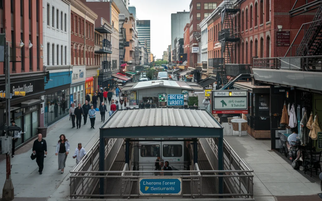
[[[6,38],[6,37],[5,37]],[[12,146],[12,137],[9,134],[9,126],[10,126],[10,65],[9,65],[9,48],[8,44],[5,40],[5,61],[4,61],[4,67],[5,67],[5,109],[6,109],[6,136],[9,141],[9,145]],[[13,49],[15,44],[12,44]],[[11,164],[10,164],[10,151],[11,146],[2,149],[6,149],[6,179],[5,179],[5,185],[2,189],[2,200],[13,200],[14,199],[14,186],[12,184],[11,180]]]

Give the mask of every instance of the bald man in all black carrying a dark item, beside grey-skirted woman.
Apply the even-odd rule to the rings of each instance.
[[[42,134],[38,134],[38,139],[33,142],[33,153],[36,154],[36,162],[39,167],[39,174],[43,174],[43,159],[44,154],[47,155],[47,143],[43,138]],[[45,152],[45,153],[44,153]]]

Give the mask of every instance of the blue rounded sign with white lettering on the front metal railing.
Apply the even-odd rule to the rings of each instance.
[[[140,195],[180,195],[181,178],[140,178]]]

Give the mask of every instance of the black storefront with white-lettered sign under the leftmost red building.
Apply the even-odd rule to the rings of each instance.
[[[15,121],[15,125],[19,126],[23,132],[21,138],[18,138],[18,142],[15,143],[16,148],[30,142],[37,136],[38,128],[44,126],[41,113],[41,103],[43,103],[41,95],[45,93],[44,77],[45,73],[43,72],[33,73],[30,79],[24,81],[21,81],[24,77],[19,74],[10,76],[10,93],[12,94],[10,123]],[[0,102],[5,105],[3,93],[5,93],[5,84],[1,83]],[[0,124],[6,123],[4,107],[0,108],[0,114]]]

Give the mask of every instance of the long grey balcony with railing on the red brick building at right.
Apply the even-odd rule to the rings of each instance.
[[[258,58],[253,75],[258,81],[322,91],[322,56]]]

